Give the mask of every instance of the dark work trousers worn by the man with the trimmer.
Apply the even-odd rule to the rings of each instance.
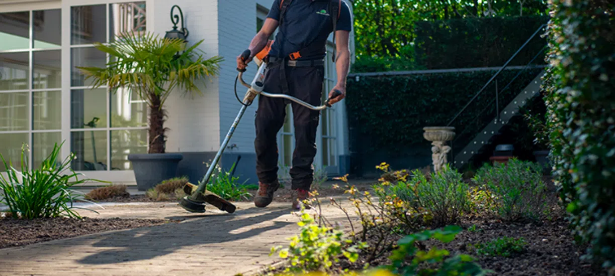
[[[284,66],[284,68],[282,68]],[[288,64],[269,63],[264,76],[263,91],[283,93],[312,105],[320,105],[324,67],[291,67]],[[312,162],[316,155],[316,128],[320,112],[311,110],[288,99],[258,97],[255,126],[256,175],[261,183],[277,180],[277,133],[284,125],[286,105],[293,110],[295,125],[295,151],[293,151],[290,177],[292,190],[309,190],[314,179]]]

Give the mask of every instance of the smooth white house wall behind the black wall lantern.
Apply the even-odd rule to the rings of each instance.
[[[233,1],[229,1],[233,2]],[[170,10],[178,5],[188,29],[188,44],[199,45],[205,58],[220,55],[218,43],[218,2],[199,0],[154,1],[154,29],[164,36],[172,28]],[[181,24],[181,22],[180,22]],[[224,58],[228,58],[223,55]],[[224,72],[224,68],[223,68]],[[224,75],[224,73],[221,73]],[[200,86],[203,96],[182,96],[175,93],[167,100],[169,118],[165,126],[170,128],[167,141],[169,152],[200,152],[217,150],[220,145],[220,106],[218,89],[220,80],[211,78],[206,87]]]

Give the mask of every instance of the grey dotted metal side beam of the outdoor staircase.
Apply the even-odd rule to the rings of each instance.
[[[498,134],[498,131],[502,129],[504,125],[508,123],[510,118],[517,114],[519,107],[528,102],[529,99],[539,94],[540,86],[542,84],[541,77],[544,75],[544,71],[538,74],[528,86],[521,91],[502,111],[500,112],[500,118],[494,118],[488,125],[485,126],[477,136],[470,141],[463,150],[454,157],[454,166],[460,168],[467,161],[472,158],[478,151],[486,144],[490,144],[491,138]]]

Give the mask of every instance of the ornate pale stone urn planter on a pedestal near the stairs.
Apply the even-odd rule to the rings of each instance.
[[[423,137],[430,141],[432,164],[434,172],[442,171],[444,164],[448,163],[446,155],[451,151],[451,147],[446,142],[455,137],[455,128],[452,126],[427,126],[423,128]]]

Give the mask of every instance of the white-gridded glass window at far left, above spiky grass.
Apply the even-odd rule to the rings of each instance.
[[[60,15],[60,9],[0,13],[0,154],[16,168],[22,147],[38,168],[62,141]]]

